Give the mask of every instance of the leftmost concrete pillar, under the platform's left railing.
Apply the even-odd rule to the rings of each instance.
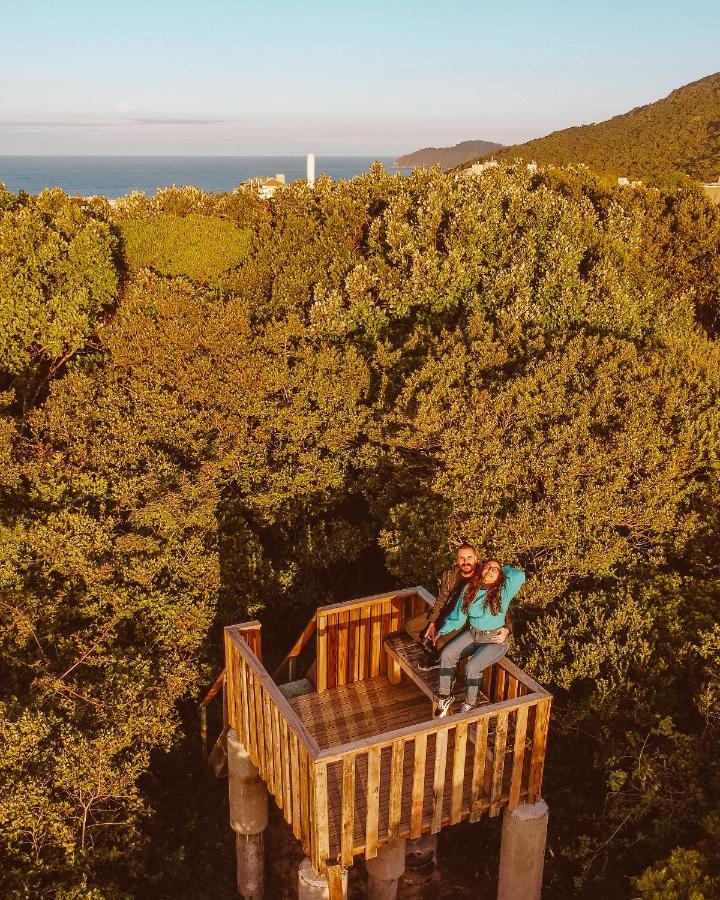
[[[235,832],[237,889],[244,900],[262,900],[265,892],[267,788],[233,729],[228,731],[230,827]]]

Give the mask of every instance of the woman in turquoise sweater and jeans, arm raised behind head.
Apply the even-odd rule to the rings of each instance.
[[[510,630],[505,616],[510,601],[525,582],[525,573],[512,566],[502,566],[498,560],[489,559],[465,585],[455,608],[438,629],[435,642],[443,634],[456,631],[469,623],[455,640],[446,644],[440,656],[440,693],[433,715],[436,719],[446,716],[455,699],[452,687],[455,683],[457,664],[464,656],[472,654],[465,669],[467,697],[460,708],[468,712],[475,706],[482,673],[496,663],[508,651]]]

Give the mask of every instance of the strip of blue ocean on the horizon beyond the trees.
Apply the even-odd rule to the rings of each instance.
[[[376,161],[392,170],[392,157],[318,156],[316,176],[352,178]],[[122,197],[131,191],[193,185],[231,191],[248,178],[282,172],[288,182],[305,178],[304,156],[0,156],[0,182],[13,192],[37,194],[61,187],[71,196]]]

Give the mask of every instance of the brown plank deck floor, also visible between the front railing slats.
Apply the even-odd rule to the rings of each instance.
[[[434,673],[437,678],[437,672]],[[331,688],[322,694],[307,694],[290,701],[307,730],[317,740],[322,749],[329,749],[351,741],[378,737],[384,732],[407,725],[427,722],[432,717],[432,704],[428,697],[420,691],[408,678],[403,677],[401,684],[392,685],[386,676],[368,681],[356,682],[343,687]],[[442,825],[450,824],[453,756],[455,752],[455,733],[450,735],[447,746],[445,788],[443,796]],[[435,767],[435,735],[430,735],[427,742],[427,763],[425,767],[424,799],[423,799],[423,832],[430,831],[433,806],[433,772]],[[486,787],[487,802],[483,803],[483,811],[490,807],[489,778],[493,767],[494,731],[491,731],[486,748],[483,782]],[[508,735],[508,746],[512,746],[512,733]],[[470,815],[470,791],[472,771],[475,760],[474,741],[468,740],[465,753],[465,778],[462,798],[461,818]],[[381,753],[380,763],[380,814],[378,818],[378,842],[382,844],[388,835],[388,813],[390,806],[389,785],[391,782],[392,751],[386,747]],[[508,757],[509,758],[509,757]],[[403,760],[402,813],[400,821],[400,837],[410,834],[411,795],[414,766],[414,745],[408,745]],[[507,801],[511,764],[505,764],[503,772],[503,802]],[[328,766],[328,797],[330,856],[340,852],[341,841],[341,809],[342,809],[342,765],[331,763]],[[355,796],[354,817],[354,852],[361,853],[365,847],[365,818],[367,813],[367,755],[356,757],[355,771],[357,791]]]

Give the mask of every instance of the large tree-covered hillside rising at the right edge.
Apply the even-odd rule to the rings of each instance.
[[[597,172],[630,178],[684,172],[715,181],[720,174],[720,73],[606,122],[556,131],[498,155],[541,164],[585,163]]]

